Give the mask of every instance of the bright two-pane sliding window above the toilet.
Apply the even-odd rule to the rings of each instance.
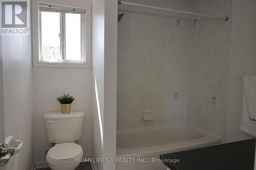
[[[89,63],[86,46],[86,9],[38,3],[36,66]],[[90,39],[89,39],[90,41]],[[34,64],[34,62],[33,62]]]

